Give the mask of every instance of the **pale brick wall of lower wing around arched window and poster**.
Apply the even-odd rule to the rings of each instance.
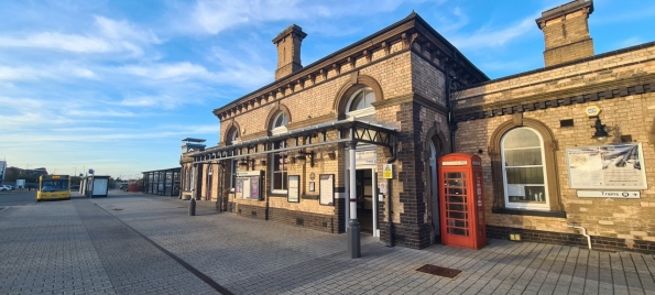
[[[655,44],[647,44],[578,64],[502,78],[462,91],[467,99],[458,103],[457,111],[476,111],[482,116],[474,117],[479,119],[465,116],[468,119],[458,123],[458,151],[488,151],[495,129],[512,120],[511,112],[495,110],[512,109],[512,106],[520,106],[514,113],[520,112],[525,119],[545,124],[556,139],[557,182],[567,218],[492,214],[491,161],[484,153],[481,157],[490,227],[549,232],[560,237],[555,241],[567,240],[561,238],[569,237],[566,234],[578,234],[563,226],[577,223],[596,237],[592,242],[598,241],[599,247],[611,244],[616,249],[642,251],[655,242],[655,188],[652,185],[655,181],[655,87],[651,87],[655,86],[654,58]],[[566,102],[570,97],[580,99]],[[526,103],[532,103],[533,108],[525,108]],[[579,198],[577,189],[569,187],[566,148],[599,144],[591,139],[594,120],[585,114],[585,109],[592,105],[602,110],[600,118],[611,135],[608,143],[625,139],[642,143],[645,162],[642,168],[649,185],[641,190],[641,199]],[[572,120],[574,125],[561,127],[560,120]]]

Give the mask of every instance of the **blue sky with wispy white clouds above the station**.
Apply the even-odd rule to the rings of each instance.
[[[568,1],[25,1],[0,9],[0,160],[135,177],[218,142],[211,110],[273,81],[271,40],[308,65],[416,11],[490,78],[543,67],[534,20]],[[596,0],[596,53],[655,41],[655,3]]]

